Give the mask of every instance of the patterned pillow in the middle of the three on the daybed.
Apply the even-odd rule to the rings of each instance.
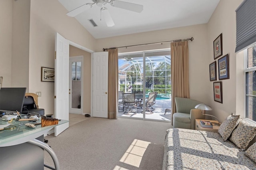
[[[256,126],[246,121],[240,121],[237,127],[233,130],[229,140],[236,144],[241,150],[246,150],[249,142],[256,134]]]

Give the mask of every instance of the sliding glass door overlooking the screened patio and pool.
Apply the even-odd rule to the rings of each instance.
[[[119,54],[118,67],[119,91],[135,93],[138,109],[138,112],[125,113],[120,97],[119,117],[170,121],[170,51]]]

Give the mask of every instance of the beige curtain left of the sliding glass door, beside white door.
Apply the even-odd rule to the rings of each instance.
[[[118,49],[108,49],[108,119],[117,119]]]

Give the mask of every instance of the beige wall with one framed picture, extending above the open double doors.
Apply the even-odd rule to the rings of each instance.
[[[54,83],[41,82],[41,67],[54,68],[55,32],[94,50],[95,39],[58,0],[32,0],[30,4],[29,92],[42,92],[39,106],[45,114],[54,113]]]

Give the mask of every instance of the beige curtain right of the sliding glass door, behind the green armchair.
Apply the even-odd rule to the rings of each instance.
[[[173,115],[176,112],[175,97],[189,98],[188,41],[171,43],[171,71]]]

